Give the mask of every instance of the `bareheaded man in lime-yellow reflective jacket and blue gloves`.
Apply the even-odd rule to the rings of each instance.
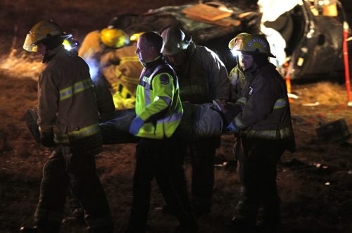
[[[137,116],[130,124],[130,133],[140,140],[136,151],[133,203],[127,232],[146,232],[153,177],[166,203],[180,221],[177,230],[196,230],[187,198],[182,159],[177,153],[181,145],[175,140],[175,130],[183,114],[178,82],[175,71],[161,54],[162,48],[163,39],[156,32],[145,32],[137,42],[136,53],[144,69],[137,87]],[[178,195],[175,189],[184,195]]]

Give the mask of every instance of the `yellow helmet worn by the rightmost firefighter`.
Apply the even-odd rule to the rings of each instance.
[[[244,37],[237,51],[240,51],[241,53],[259,54],[275,58],[275,56],[270,52],[268,40],[261,34]]]

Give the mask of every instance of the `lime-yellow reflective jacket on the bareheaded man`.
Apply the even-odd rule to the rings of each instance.
[[[138,137],[171,137],[180,125],[183,109],[177,77],[163,56],[145,64],[137,87],[136,114],[146,122]]]

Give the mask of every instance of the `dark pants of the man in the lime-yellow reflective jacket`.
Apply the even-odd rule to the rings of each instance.
[[[130,232],[146,231],[153,177],[156,178],[165,202],[180,224],[192,221],[183,161],[179,153],[182,147],[182,142],[172,138],[163,140],[142,138],[138,142]]]

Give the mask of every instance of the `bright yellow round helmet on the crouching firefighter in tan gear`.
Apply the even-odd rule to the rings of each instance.
[[[118,49],[130,44],[130,37],[126,32],[116,28],[104,28],[100,32],[100,39],[106,46]]]

